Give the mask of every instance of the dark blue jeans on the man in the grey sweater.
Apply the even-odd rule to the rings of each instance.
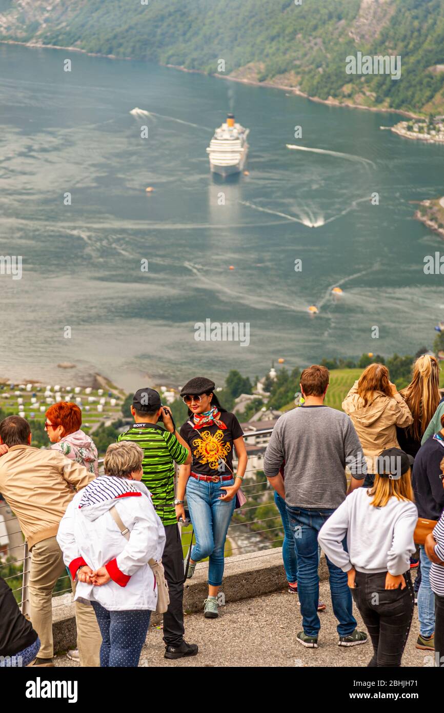
[[[302,626],[306,636],[317,637],[321,622],[317,613],[319,602],[318,574],[318,533],[322,525],[334,513],[334,509],[291,508],[289,514],[291,530],[298,558],[298,593],[301,602]],[[346,540],[343,543],[346,548]],[[334,615],[339,621],[337,627],[339,636],[349,636],[356,629],[356,619],[353,617],[353,600],[347,585],[347,575],[336,567],[328,557],[331,604]]]

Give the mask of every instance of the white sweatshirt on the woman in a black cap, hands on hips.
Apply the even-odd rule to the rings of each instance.
[[[367,488],[356,488],[329,517],[318,541],[331,562],[344,572],[390,572],[403,575],[415,552],[413,533],[418,510],[411,501],[393,496],[383,508],[371,505]],[[342,541],[347,536],[347,549]]]

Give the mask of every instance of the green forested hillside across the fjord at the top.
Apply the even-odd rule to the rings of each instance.
[[[219,71],[322,100],[444,110],[444,0],[0,0],[1,37]],[[358,51],[400,55],[401,78],[347,74],[346,56]]]

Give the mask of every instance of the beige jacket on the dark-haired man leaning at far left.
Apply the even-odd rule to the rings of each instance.
[[[11,446],[0,457],[0,493],[19,519],[29,549],[57,534],[75,493],[94,478],[58,451]]]

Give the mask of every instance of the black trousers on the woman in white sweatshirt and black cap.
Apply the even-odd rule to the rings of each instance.
[[[404,573],[403,590],[385,589],[386,574],[356,571],[356,588],[351,590],[373,644],[370,667],[401,666],[415,606],[410,571]]]

